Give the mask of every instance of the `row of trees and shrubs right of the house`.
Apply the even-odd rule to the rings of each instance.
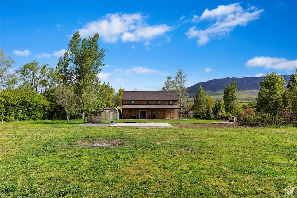
[[[247,118],[246,122],[254,125],[296,121],[297,118],[297,67],[290,76],[285,88],[286,80],[276,72],[268,73],[260,81],[256,101],[248,104],[239,103],[236,79],[226,86],[223,100],[214,102],[210,95],[206,95],[200,85],[194,96],[192,109],[204,119],[212,119],[213,115],[225,115]],[[265,118],[265,121],[264,119]],[[259,121],[262,120],[262,123]],[[253,125],[253,124],[250,124]]]

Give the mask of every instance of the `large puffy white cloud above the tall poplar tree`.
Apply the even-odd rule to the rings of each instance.
[[[122,42],[151,40],[172,30],[172,27],[166,24],[149,25],[145,21],[146,18],[141,13],[107,14],[85,24],[78,31],[82,37],[89,37],[99,32],[103,42],[115,43],[119,40]]]

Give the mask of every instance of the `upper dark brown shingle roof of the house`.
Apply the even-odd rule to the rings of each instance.
[[[122,100],[178,100],[173,91],[124,91]]]

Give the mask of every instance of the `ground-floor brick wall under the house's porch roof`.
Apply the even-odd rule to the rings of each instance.
[[[122,118],[123,119],[132,119],[131,115],[136,115],[136,109],[130,109],[132,110],[131,113],[129,113],[129,109],[123,109],[122,111]],[[139,111],[140,110],[146,110],[146,118],[139,118]],[[156,114],[156,111],[160,111],[160,115]],[[165,110],[165,115],[164,111]],[[178,118],[178,109],[138,109],[137,110],[137,119],[150,119],[150,115],[152,111],[151,119],[153,119],[153,115],[155,115],[155,119],[170,119],[170,111],[174,110],[174,118]]]

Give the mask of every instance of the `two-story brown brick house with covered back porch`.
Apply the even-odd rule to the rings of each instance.
[[[124,91],[123,119],[178,118],[178,96],[173,91]]]

